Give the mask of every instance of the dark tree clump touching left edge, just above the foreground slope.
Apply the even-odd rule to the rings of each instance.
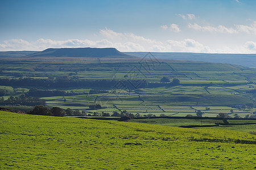
[[[46,101],[43,99],[39,99],[37,97],[26,97],[25,95],[22,95],[20,97],[9,97],[8,99],[4,99],[3,97],[0,97],[0,104],[2,105],[14,105],[14,104],[20,104],[20,105],[45,105]]]

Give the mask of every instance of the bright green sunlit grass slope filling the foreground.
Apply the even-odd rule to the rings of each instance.
[[[0,169],[253,169],[255,135],[0,112]]]

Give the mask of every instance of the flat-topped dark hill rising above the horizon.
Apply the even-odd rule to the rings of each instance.
[[[42,52],[28,54],[26,57],[114,57],[136,58],[119,52],[115,48],[48,48]]]

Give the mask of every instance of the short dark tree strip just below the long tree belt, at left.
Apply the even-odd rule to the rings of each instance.
[[[30,91],[28,91],[26,95],[32,97],[65,96],[66,92],[64,90],[40,90],[37,88],[30,88]]]

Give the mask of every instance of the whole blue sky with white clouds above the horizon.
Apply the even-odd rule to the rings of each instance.
[[[254,0],[0,0],[0,51],[256,53]]]

